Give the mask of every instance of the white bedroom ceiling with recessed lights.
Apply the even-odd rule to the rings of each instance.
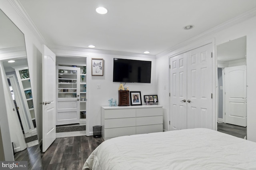
[[[19,0],[49,46],[157,55],[248,10],[256,0]],[[105,15],[96,13],[107,8]],[[182,29],[194,25],[191,30]]]

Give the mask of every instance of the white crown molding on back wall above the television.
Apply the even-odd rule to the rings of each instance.
[[[88,54],[86,53],[98,53],[98,54],[106,54],[106,55],[123,55],[123,56],[129,56],[129,57],[156,58],[155,55],[129,53],[129,52],[123,52],[123,51],[110,51],[110,50],[103,50],[103,49],[91,49],[91,48],[83,48],[83,47],[61,46],[61,45],[48,45],[48,47],[56,55],[59,55],[59,56],[66,56],[67,55],[66,51],[72,51],[73,54],[77,56],[88,56]]]

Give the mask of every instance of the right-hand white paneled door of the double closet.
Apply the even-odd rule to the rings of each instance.
[[[188,128],[212,129],[212,44],[188,51]]]

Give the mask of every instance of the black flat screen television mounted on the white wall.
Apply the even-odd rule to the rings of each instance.
[[[150,83],[151,61],[114,58],[113,82]]]

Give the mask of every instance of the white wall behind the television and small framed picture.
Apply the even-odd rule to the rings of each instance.
[[[136,59],[152,61],[151,83],[126,83],[124,87],[129,87],[130,91],[141,91],[142,104],[144,104],[143,95],[154,95],[156,91],[156,59],[153,55],[133,54],[133,53],[118,53],[111,51],[99,50],[95,52],[88,52],[86,49],[57,49],[50,47],[57,56],[64,57],[87,57],[87,87],[86,95],[89,95],[88,103],[89,110],[86,108],[86,129],[89,128],[89,134],[92,135],[93,126],[101,125],[101,106],[108,106],[108,100],[113,98],[118,103],[118,87],[120,83],[113,83],[113,60],[114,58],[122,59]],[[90,50],[89,50],[90,51]],[[91,59],[104,59],[104,76],[91,76]],[[100,84],[101,88],[97,89]],[[124,106],[125,107],[125,106]],[[89,121],[88,121],[89,119]]]

